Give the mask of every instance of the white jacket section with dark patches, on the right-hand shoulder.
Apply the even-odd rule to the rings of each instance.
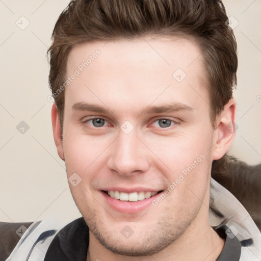
[[[213,178],[208,217],[212,227],[226,225],[227,237],[237,237],[240,241],[240,261],[261,260],[260,230],[239,200]]]

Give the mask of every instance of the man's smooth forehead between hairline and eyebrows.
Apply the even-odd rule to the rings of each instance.
[[[176,102],[190,98],[193,103],[196,92],[201,103],[203,96],[208,99],[201,50],[190,39],[144,37],[76,45],[68,57],[67,77],[75,71],[77,76],[65,92],[69,106],[91,99],[113,107],[115,95],[120,106],[132,100],[133,107],[128,108],[133,109],[141,101],[170,102],[175,96]]]

